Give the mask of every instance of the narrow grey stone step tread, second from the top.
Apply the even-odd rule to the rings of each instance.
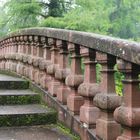
[[[38,93],[35,93],[29,89],[25,90],[0,90],[0,96],[24,96],[24,95],[38,95]]]

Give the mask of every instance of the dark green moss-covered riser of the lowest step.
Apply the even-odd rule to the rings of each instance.
[[[0,127],[2,126],[29,126],[56,123],[57,113],[50,111],[47,114],[23,114],[0,116]]]

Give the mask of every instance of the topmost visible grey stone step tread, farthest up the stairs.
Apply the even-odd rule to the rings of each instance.
[[[0,74],[0,81],[25,81],[22,78]]]

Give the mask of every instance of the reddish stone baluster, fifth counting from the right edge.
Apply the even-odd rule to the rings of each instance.
[[[59,68],[55,72],[55,78],[60,81],[60,86],[57,89],[57,100],[62,104],[67,103],[67,97],[70,94],[70,88],[65,85],[65,79],[70,74],[68,68],[68,45],[67,42],[57,40],[57,47],[59,48]]]

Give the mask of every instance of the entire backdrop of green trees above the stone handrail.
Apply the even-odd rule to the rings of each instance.
[[[140,40],[140,0],[7,0],[0,35],[25,27],[53,27]]]

